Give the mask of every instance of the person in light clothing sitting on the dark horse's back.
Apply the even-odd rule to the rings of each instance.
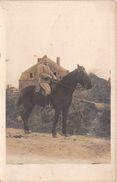
[[[44,90],[42,94],[45,96],[51,94],[51,79],[56,80],[57,78],[48,65],[47,56],[44,56],[43,62],[38,63],[38,86]]]

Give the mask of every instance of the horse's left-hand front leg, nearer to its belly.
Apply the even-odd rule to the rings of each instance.
[[[54,117],[54,123],[53,123],[53,127],[52,127],[52,136],[56,137],[57,133],[56,133],[56,125],[58,123],[58,119],[59,119],[59,114],[60,114],[60,110],[55,109],[55,117]]]

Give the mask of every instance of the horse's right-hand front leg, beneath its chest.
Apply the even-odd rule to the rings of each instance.
[[[66,121],[67,121],[67,115],[68,115],[68,107],[63,108],[62,110],[62,133],[64,136],[67,136],[67,131],[66,131]]]

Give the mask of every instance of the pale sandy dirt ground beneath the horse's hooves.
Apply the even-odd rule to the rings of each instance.
[[[92,136],[47,133],[24,134],[22,129],[7,128],[8,164],[110,163],[110,140]]]

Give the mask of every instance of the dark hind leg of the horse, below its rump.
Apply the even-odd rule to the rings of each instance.
[[[24,110],[21,113],[22,120],[23,120],[23,123],[24,123],[25,133],[30,133],[29,125],[28,125],[28,119],[29,119],[29,116],[30,116],[30,114],[32,112],[32,109],[33,109],[33,105],[30,105],[30,106],[24,108]]]

